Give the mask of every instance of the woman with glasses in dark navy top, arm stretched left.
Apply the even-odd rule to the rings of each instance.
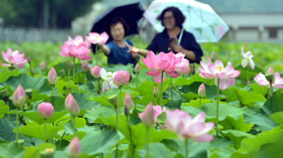
[[[199,46],[195,37],[190,32],[186,32],[182,27],[185,16],[175,7],[168,7],[157,17],[165,27],[164,31],[156,34],[153,41],[146,49],[130,47],[128,52],[139,53],[143,56],[148,54],[149,50],[153,52],[182,52],[190,63],[199,63],[203,56],[202,48]]]

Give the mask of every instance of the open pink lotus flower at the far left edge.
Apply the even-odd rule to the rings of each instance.
[[[16,67],[23,67],[24,63],[27,62],[25,59],[25,54],[19,54],[19,50],[12,52],[12,49],[8,48],[7,53],[2,51],[3,60],[10,64],[0,63],[0,65],[4,67],[12,67],[15,65]]]

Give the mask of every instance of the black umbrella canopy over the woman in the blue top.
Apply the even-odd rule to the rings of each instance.
[[[138,2],[113,6],[97,16],[90,32],[102,33],[106,31],[110,21],[117,16],[121,16],[130,26],[130,30],[126,32],[125,36],[138,34],[139,26],[137,25],[137,22],[142,18],[143,14],[144,8],[142,8],[142,5]],[[107,33],[109,34],[109,32]]]

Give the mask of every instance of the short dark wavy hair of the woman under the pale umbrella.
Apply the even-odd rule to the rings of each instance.
[[[162,11],[162,13],[157,16],[157,20],[161,21],[161,24],[164,26],[163,23],[163,18],[164,18],[164,14],[165,12],[172,12],[173,16],[175,18],[175,22],[176,25],[180,28],[182,28],[182,24],[184,23],[186,17],[184,16],[184,14],[176,7],[168,7],[165,10]]]

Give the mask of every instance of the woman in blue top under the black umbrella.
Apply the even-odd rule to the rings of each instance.
[[[125,32],[128,30],[128,25],[121,17],[117,17],[110,22],[108,33],[113,38],[106,45],[99,45],[99,48],[108,56],[108,65],[132,63],[135,65],[139,60],[139,55],[135,52],[128,53],[130,46],[133,46],[131,41],[125,40]]]

